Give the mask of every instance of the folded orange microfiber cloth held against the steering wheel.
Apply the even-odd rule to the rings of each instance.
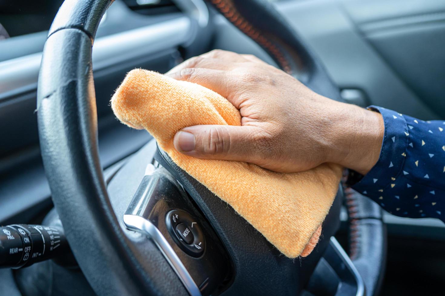
[[[227,201],[281,253],[307,256],[315,247],[341,177],[326,163],[301,173],[276,173],[251,163],[198,159],[173,146],[176,132],[201,124],[241,125],[227,99],[195,83],[135,69],[111,99],[125,124],[145,128],[188,174]]]

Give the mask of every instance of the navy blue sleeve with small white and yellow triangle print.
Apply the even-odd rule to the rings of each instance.
[[[401,217],[445,221],[445,121],[423,121],[382,107],[384,138],[376,165],[352,189]]]

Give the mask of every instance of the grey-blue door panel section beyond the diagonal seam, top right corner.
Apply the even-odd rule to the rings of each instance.
[[[445,118],[445,1],[346,0],[344,7],[397,75]]]

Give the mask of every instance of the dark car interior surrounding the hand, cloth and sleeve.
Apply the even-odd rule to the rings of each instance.
[[[0,295],[442,295],[440,220],[342,182],[314,251],[289,259],[110,99],[134,68],[223,49],[443,119],[444,36],[437,0],[0,0]]]

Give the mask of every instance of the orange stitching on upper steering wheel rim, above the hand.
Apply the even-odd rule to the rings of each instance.
[[[255,40],[261,46],[266,48],[272,55],[275,56],[277,61],[280,63],[283,70],[288,74],[292,73],[291,67],[288,61],[284,57],[283,53],[276,47],[273,43],[267,40],[261,33],[256,30],[246,19],[239,14],[239,12],[234,7],[231,0],[210,0],[212,4],[229,20],[232,24],[241,30],[244,34],[249,36],[251,39]]]

